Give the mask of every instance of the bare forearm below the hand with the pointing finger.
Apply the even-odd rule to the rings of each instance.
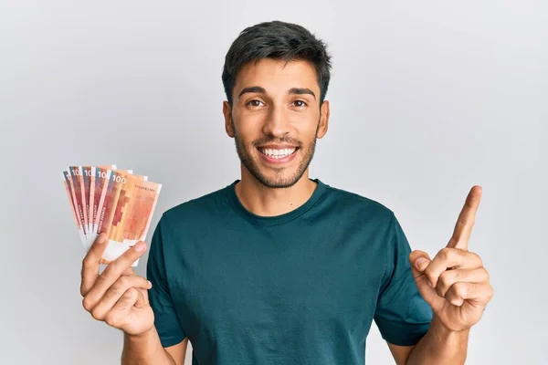
[[[444,328],[436,316],[427,334],[409,354],[406,365],[464,364],[467,356],[469,329],[454,332]]]

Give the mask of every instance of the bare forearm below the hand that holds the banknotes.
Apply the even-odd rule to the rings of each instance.
[[[124,334],[123,350],[121,353],[122,365],[184,365],[184,356],[188,339],[163,348],[156,328],[139,336]]]

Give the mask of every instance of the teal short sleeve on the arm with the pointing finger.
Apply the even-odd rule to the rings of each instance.
[[[427,333],[433,312],[416,287],[409,263],[411,247],[394,214],[388,237],[388,271],[374,321],[387,342],[412,346]]]

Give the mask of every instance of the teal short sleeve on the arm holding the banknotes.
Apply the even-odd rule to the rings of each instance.
[[[154,230],[146,276],[153,283],[153,287],[149,290],[149,301],[154,312],[154,326],[160,335],[162,346],[166,348],[181,342],[185,336],[167,285],[162,224],[160,219],[160,223]]]

